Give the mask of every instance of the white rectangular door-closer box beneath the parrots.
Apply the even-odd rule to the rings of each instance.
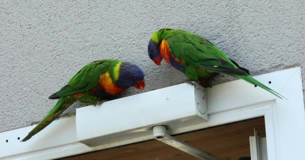
[[[198,83],[182,83],[78,108],[78,141],[93,147],[149,136],[155,125],[179,129],[200,124],[208,120],[206,98],[205,88]]]

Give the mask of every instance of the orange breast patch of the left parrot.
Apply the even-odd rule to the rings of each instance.
[[[110,95],[118,95],[126,90],[125,88],[120,88],[113,83],[109,72],[100,75],[99,84]]]

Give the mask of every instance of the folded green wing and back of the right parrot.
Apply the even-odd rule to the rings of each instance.
[[[209,71],[247,75],[238,68],[216,45],[209,40],[184,30],[167,30],[164,39],[174,56],[186,64],[202,67]],[[171,34],[173,32],[174,34]]]

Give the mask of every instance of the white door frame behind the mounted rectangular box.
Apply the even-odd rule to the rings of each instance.
[[[203,120],[201,123],[190,123],[186,126],[173,128],[171,133],[183,133],[190,130],[264,116],[268,159],[302,159],[304,153],[303,146],[305,144],[305,111],[300,67],[284,69],[255,77],[280,92],[289,100],[279,99],[265,90],[254,87],[242,80],[214,85],[212,88],[206,89],[208,121]],[[268,81],[271,81],[271,84]],[[180,85],[180,87],[185,87],[185,85]],[[182,93],[173,92],[171,95],[175,96],[175,94]],[[142,94],[145,95],[144,93]],[[109,105],[110,103],[108,102]],[[128,103],[128,105],[130,104],[132,102]],[[130,107],[132,109],[132,106]],[[88,109],[87,111],[89,112],[90,109],[92,110],[89,117],[93,116],[94,112],[96,112],[96,107],[94,108],[93,106],[79,108],[77,109],[76,117],[72,116],[55,120],[50,126],[27,142],[20,142],[20,140],[17,140],[17,137],[23,138],[34,126],[0,133],[0,158],[54,159],[154,138],[152,132],[151,134],[133,138],[128,137],[126,134],[125,138],[120,141],[89,147],[81,143],[82,139],[79,138],[80,134],[83,133],[78,132],[78,130],[84,126],[78,126],[77,123],[89,118],[79,119],[77,117],[82,109]],[[115,107],[113,109],[114,112],[120,111],[115,110]],[[136,110],[134,111],[136,112]],[[175,113],[176,110],[164,111],[171,114],[170,112]],[[98,122],[92,121],[91,123],[92,125],[98,124]],[[114,124],[113,127],[115,127]],[[131,132],[137,132],[141,131],[141,128],[130,130]],[[130,130],[128,133],[130,133]],[[111,137],[111,135],[107,136]],[[122,136],[124,135],[122,134]],[[5,142],[6,139],[9,139],[9,142]]]

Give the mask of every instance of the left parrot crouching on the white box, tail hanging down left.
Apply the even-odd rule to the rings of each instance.
[[[85,65],[67,85],[49,96],[50,99],[59,100],[22,141],[27,141],[49,125],[75,101],[96,104],[98,101],[120,94],[131,86],[137,89],[143,89],[145,86],[143,71],[132,62],[104,59]]]

